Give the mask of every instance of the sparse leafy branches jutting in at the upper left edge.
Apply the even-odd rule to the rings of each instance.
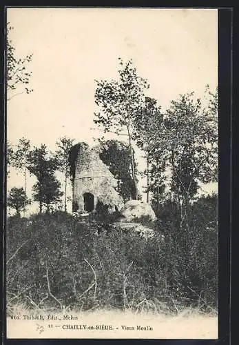
[[[10,40],[10,31],[13,29],[10,23],[7,23],[7,100],[10,101],[13,97],[21,95],[23,92],[30,93],[32,88],[29,88],[30,77],[32,72],[27,72],[26,64],[32,61],[32,55],[27,55],[21,59],[18,59],[15,54],[15,48],[12,46]],[[20,88],[17,92],[17,88]]]

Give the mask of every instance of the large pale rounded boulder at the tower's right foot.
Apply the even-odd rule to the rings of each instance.
[[[136,219],[156,220],[156,215],[152,207],[144,201],[129,200],[125,203],[120,212],[120,221],[135,221]]]

